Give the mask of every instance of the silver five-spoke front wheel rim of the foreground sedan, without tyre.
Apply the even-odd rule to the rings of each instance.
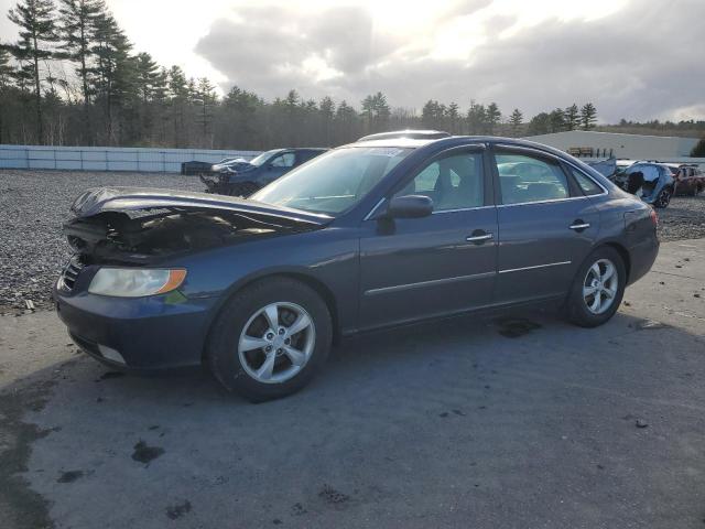
[[[245,371],[258,382],[282,384],[306,365],[316,343],[313,319],[296,303],[275,302],[248,320],[238,341]]]

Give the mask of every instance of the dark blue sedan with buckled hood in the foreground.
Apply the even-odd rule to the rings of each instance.
[[[650,206],[499,138],[360,141],[251,199],[97,188],[72,213],[55,298],[73,339],[123,369],[206,364],[253,401],[364,331],[538,302],[600,325],[659,249]]]

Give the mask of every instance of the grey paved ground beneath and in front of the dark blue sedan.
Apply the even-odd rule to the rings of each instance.
[[[462,317],[337,347],[259,406],[0,317],[0,527],[705,527],[705,239],[608,324]]]

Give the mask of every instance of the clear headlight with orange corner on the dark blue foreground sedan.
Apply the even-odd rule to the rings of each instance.
[[[90,281],[88,292],[117,298],[141,298],[177,289],[186,279],[186,270],[144,268],[101,268]]]

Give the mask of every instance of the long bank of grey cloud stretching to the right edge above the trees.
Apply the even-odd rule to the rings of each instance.
[[[589,100],[607,121],[705,117],[701,0],[632,0],[600,19],[556,14],[523,25],[491,0],[474,0],[446,6],[406,35],[359,7],[240,8],[236,15],[215,21],[196,53],[228,85],[265,97],[296,88],[357,102],[382,90],[412,108],[430,98],[462,107],[475,99],[530,116]]]

